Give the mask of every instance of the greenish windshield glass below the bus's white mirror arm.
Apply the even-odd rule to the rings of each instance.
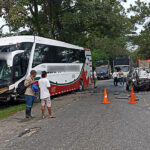
[[[11,78],[11,68],[8,67],[6,60],[0,60],[0,80]]]

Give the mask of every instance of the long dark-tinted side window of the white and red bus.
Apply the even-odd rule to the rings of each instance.
[[[33,67],[42,63],[85,63],[85,51],[59,46],[37,44]]]

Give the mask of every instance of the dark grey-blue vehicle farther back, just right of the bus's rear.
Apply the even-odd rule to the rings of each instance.
[[[98,80],[111,78],[111,67],[109,67],[109,65],[102,65],[100,67],[96,67],[96,71]]]

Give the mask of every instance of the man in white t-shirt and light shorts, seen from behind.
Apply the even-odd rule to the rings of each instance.
[[[47,72],[42,72],[42,78],[39,80],[40,87],[40,99],[41,99],[41,110],[42,118],[45,118],[45,105],[47,105],[48,113],[50,118],[54,118],[51,111],[51,99],[50,99],[50,82],[47,79]]]

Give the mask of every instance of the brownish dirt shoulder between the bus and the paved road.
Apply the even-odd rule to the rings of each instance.
[[[55,112],[63,106],[68,105],[69,103],[72,103],[73,101],[77,101],[82,98],[86,93],[92,93],[93,89],[92,87],[89,87],[85,89],[84,92],[74,92],[72,94],[66,94],[63,96],[56,97],[52,100],[52,109],[53,113],[55,115]],[[0,143],[5,142],[7,140],[10,140],[13,138],[14,134],[19,134],[19,131],[21,129],[26,129],[34,124],[37,124],[37,122],[41,122],[41,107],[40,103],[36,105],[32,109],[32,115],[35,117],[34,119],[27,121],[25,120],[25,112],[20,111],[14,114],[13,116],[8,117],[7,119],[0,121]],[[47,111],[46,111],[47,114]],[[48,114],[47,114],[48,117]]]

